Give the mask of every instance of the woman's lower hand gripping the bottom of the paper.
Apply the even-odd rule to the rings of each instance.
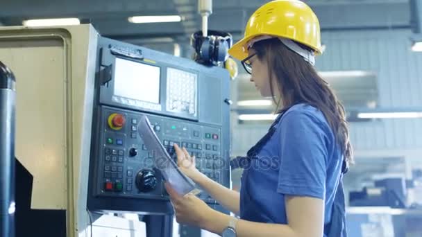
[[[169,184],[164,184],[176,212],[176,221],[205,229],[205,223],[212,215],[212,209],[193,194],[179,195]]]

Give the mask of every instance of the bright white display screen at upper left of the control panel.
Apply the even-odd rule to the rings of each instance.
[[[160,67],[116,58],[115,96],[160,103]]]

